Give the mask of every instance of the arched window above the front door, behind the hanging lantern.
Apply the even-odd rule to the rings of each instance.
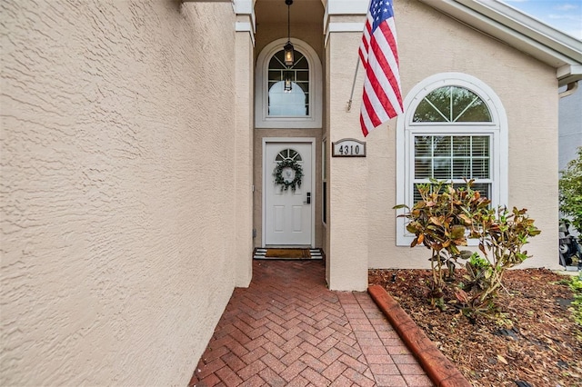
[[[309,45],[294,39],[295,63],[287,67],[285,44],[279,39],[266,45],[256,59],[256,127],[320,128],[321,62]]]

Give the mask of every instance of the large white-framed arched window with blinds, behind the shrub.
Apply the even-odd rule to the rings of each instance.
[[[420,200],[418,184],[431,179],[465,184],[492,205],[507,203],[507,117],[497,94],[467,74],[436,74],[406,96],[396,134],[397,203]],[[413,235],[397,221],[398,245]]]

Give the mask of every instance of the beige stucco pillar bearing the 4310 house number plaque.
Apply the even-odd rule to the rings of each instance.
[[[332,21],[341,18],[335,16]],[[326,64],[327,91],[326,98],[328,123],[328,144],[343,139],[363,139],[359,128],[359,101],[350,113],[346,113],[354,69],[345,64],[356,63],[357,47],[360,34],[336,33],[329,37],[327,43]],[[352,60],[354,59],[354,60]],[[361,85],[362,83],[358,83]],[[361,89],[356,93],[361,95]],[[355,93],[355,94],[356,94]],[[357,97],[356,97],[357,98]],[[355,98],[355,99],[356,99]],[[328,152],[331,154],[331,151]],[[369,176],[375,157],[330,157],[329,176],[329,211],[327,222],[328,239],[326,251],[327,282],[332,290],[365,291],[367,287],[367,256],[370,205]],[[377,156],[385,154],[382,151]],[[379,175],[380,179],[383,174]],[[394,186],[391,187],[394,190]],[[386,226],[382,226],[386,228]]]

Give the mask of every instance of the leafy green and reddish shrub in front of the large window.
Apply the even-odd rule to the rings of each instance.
[[[428,285],[433,305],[444,309],[445,275],[452,276],[459,259],[467,260],[465,281],[453,290],[467,315],[495,308],[503,274],[527,259],[524,246],[540,233],[526,209],[490,208],[490,201],[473,191],[472,184],[468,181],[460,188],[437,181],[420,184],[419,202],[412,208],[395,207],[408,210],[398,216],[410,221],[406,230],[415,234],[410,247],[423,244],[431,251],[432,281]],[[459,250],[467,245],[467,235],[478,240],[483,255]]]

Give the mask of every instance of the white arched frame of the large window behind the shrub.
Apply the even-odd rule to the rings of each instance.
[[[415,123],[418,104],[427,94],[444,86],[464,87],[477,94],[491,114],[490,123]],[[501,99],[487,84],[463,73],[440,73],[427,77],[406,94],[405,114],[396,123],[396,204],[412,206],[415,135],[488,135],[491,137],[491,204],[507,204],[508,136],[507,114]],[[399,209],[396,214],[406,213]],[[406,219],[396,218],[396,245],[409,246],[414,235],[406,231]],[[469,241],[469,244],[471,241]]]

